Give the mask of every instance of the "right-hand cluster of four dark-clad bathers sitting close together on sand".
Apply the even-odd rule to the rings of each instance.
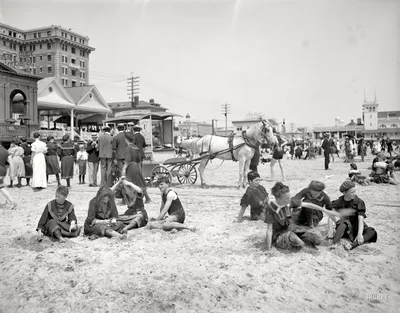
[[[247,178],[249,186],[240,202],[238,221],[243,220],[243,214],[250,206],[250,218],[263,220],[267,224],[268,250],[272,246],[281,249],[304,246],[316,248],[321,244],[320,238],[299,226],[314,228],[322,220],[323,213],[329,216],[328,239],[332,240],[332,248],[338,246],[341,238],[350,240],[350,243],[344,245],[347,250],[377,240],[376,231],[364,222],[365,203],[356,195],[355,183],[352,181],[347,180],[341,184],[339,191],[343,195],[334,201],[324,192],[325,185],[322,182],[312,181],[308,188],[294,197],[291,197],[288,186],[277,182],[271,189],[275,198],[271,200],[268,192],[260,185],[258,173],[249,172]],[[333,223],[336,225],[335,232]]]

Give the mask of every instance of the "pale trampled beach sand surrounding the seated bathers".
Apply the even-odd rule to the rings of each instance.
[[[367,204],[366,222],[378,232],[376,244],[351,252],[263,251],[266,225],[235,223],[244,190],[234,186],[238,165],[214,160],[206,170],[210,189],[199,182],[173,187],[195,233],[140,229],[125,241],[80,236],[65,244],[45,237],[36,242],[35,228],[55,182],[34,193],[9,189],[18,209],[0,210],[0,312],[395,312],[400,305],[400,188],[359,186]],[[323,159],[284,160],[292,193],[311,179],[326,183],[331,199],[346,178],[343,161],[323,170]],[[357,163],[364,174],[371,157]],[[263,177],[269,164],[260,165]],[[275,172],[279,176],[276,165]],[[400,177],[397,177],[400,180]],[[53,178],[54,180],[54,178]],[[7,182],[7,180],[6,180]],[[264,182],[270,190],[273,182]],[[69,200],[83,225],[96,188],[73,180]],[[146,206],[156,217],[160,195],[149,192]],[[1,199],[0,201],[4,200]],[[386,203],[386,205],[384,205]],[[396,206],[397,203],[397,206]],[[389,205],[388,205],[389,204]],[[125,208],[119,206],[122,213]],[[246,216],[249,210],[246,211]],[[326,234],[326,218],[315,230]]]

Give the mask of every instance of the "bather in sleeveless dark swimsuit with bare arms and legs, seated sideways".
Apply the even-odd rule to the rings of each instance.
[[[161,177],[157,181],[157,186],[161,191],[161,207],[160,207],[160,215],[156,218],[155,221],[149,222],[149,228],[157,228],[163,230],[172,230],[172,229],[189,229],[191,231],[195,231],[196,228],[194,226],[186,226],[183,225],[185,221],[185,210],[181,204],[181,200],[175,191],[171,189],[171,182],[168,177]],[[166,214],[168,216],[166,217]]]

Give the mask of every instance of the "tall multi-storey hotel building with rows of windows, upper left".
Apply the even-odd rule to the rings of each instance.
[[[21,30],[0,23],[0,62],[27,73],[56,77],[64,87],[89,84],[89,38],[61,26]]]

